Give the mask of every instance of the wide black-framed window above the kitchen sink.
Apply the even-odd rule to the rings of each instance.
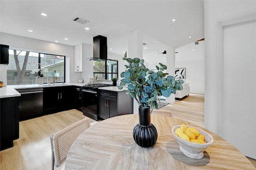
[[[8,85],[38,84],[41,74],[44,83],[53,82],[54,70],[57,82],[65,82],[65,56],[9,49]]]

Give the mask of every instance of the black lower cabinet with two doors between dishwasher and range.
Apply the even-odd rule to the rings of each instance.
[[[44,113],[56,113],[58,111],[74,109],[75,87],[61,86],[44,88],[43,110]]]

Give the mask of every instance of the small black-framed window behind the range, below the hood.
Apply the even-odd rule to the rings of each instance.
[[[118,61],[93,61],[93,76],[98,76],[99,80],[118,78]]]

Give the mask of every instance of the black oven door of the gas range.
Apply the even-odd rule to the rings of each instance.
[[[94,120],[98,120],[97,104],[98,104],[97,92],[88,92],[83,89],[82,90],[83,114]]]

